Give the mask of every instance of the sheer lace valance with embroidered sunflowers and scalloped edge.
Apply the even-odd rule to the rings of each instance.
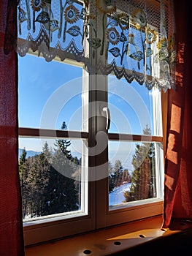
[[[174,88],[172,0],[19,0],[17,51],[74,59],[91,73]]]

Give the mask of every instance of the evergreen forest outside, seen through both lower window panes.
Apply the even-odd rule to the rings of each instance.
[[[66,129],[65,122],[61,129]],[[149,135],[150,129],[146,127],[144,133]],[[34,157],[27,157],[23,148],[19,159],[23,219],[81,209],[81,159],[72,156],[70,144],[70,140],[58,139],[52,149],[45,142]],[[130,173],[120,160],[114,166],[109,162],[109,192],[128,183],[131,187],[124,191],[123,202],[155,197],[154,143],[137,143],[132,165]]]

